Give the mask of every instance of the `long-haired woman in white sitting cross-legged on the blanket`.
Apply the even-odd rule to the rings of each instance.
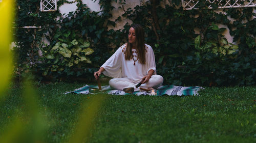
[[[109,81],[115,90],[134,88],[142,82],[142,88],[158,88],[163,77],[156,74],[155,55],[152,47],[144,42],[144,30],[139,24],[133,24],[129,30],[129,41],[119,47],[100,69],[94,73],[96,79],[103,73],[113,77]]]

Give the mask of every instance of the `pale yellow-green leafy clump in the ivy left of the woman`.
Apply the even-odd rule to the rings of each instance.
[[[84,64],[91,64],[92,62],[87,55],[90,55],[94,50],[90,47],[89,41],[83,41],[79,39],[70,40],[71,32],[63,34],[66,39],[58,38],[57,42],[49,52],[45,52],[45,58],[50,60],[52,64],[51,71],[62,71],[66,67],[81,68]],[[48,62],[48,63],[49,63]],[[44,75],[48,74],[48,69],[44,72]]]

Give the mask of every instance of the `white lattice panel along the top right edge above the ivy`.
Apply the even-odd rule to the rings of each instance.
[[[181,0],[184,10],[198,9],[197,4],[200,0]],[[218,4],[219,9],[225,8],[246,8],[256,7],[256,0],[206,0],[206,6],[212,9],[212,4]]]

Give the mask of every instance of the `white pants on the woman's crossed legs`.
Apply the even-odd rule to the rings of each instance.
[[[139,83],[139,82],[138,82]],[[163,77],[161,75],[152,75],[148,82],[141,84],[139,88],[135,88],[138,83],[133,83],[129,78],[112,78],[109,81],[109,85],[114,90],[123,90],[124,88],[134,88],[134,91],[139,91],[139,88],[154,88],[157,89],[163,83]]]

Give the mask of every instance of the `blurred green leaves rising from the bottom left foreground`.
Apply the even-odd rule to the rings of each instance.
[[[48,142],[47,136],[49,136],[49,128],[52,127],[52,119],[48,117],[46,106],[41,106],[39,93],[36,92],[34,84],[32,81],[29,81],[28,78],[22,83],[20,91],[22,95],[20,95],[20,93],[18,93],[17,96],[15,95],[19,98],[19,108],[14,112],[11,108],[15,108],[16,103],[10,103],[8,106],[11,106],[11,108],[8,108],[3,104],[5,101],[0,100],[0,105],[4,107],[4,112],[2,112],[3,110],[1,111],[3,116],[8,115],[8,118],[5,118],[8,119],[7,121],[1,119],[1,125],[3,125],[4,122],[7,124],[2,126],[0,142]],[[1,93],[1,95],[2,94],[3,93]],[[13,96],[9,95],[4,99],[6,100],[12,97]],[[95,96],[91,98],[85,106],[81,106],[80,109],[76,111],[78,122],[72,123],[74,124],[74,131],[68,132],[69,134],[67,134],[66,141],[84,142],[89,140],[95,118],[99,117],[98,111],[103,104],[103,100],[104,97]],[[3,116],[1,116],[1,118]],[[58,125],[61,123],[60,121],[57,122]]]

